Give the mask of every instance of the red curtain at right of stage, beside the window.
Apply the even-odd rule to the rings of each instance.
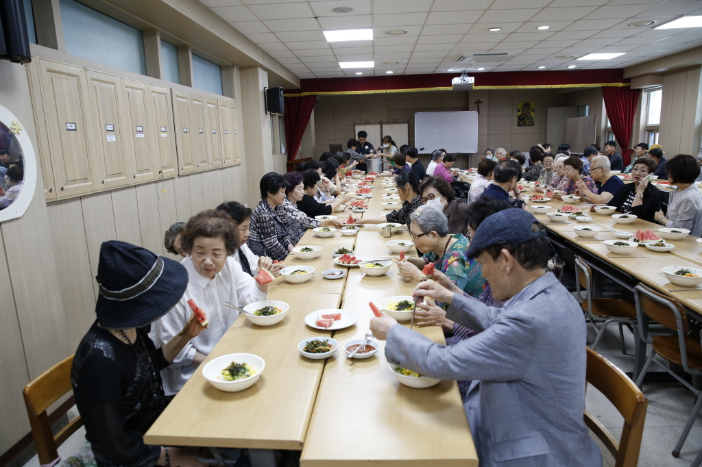
[[[633,150],[629,149],[629,140],[640,93],[640,89],[630,89],[628,86],[602,88],[604,109],[607,111],[614,139],[621,147],[621,157],[625,166],[629,165],[630,154],[633,153]]]

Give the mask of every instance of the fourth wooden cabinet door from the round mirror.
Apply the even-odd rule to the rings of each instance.
[[[173,138],[173,106],[171,89],[150,84],[148,86],[146,110],[149,128],[157,137],[151,140],[154,167],[159,170],[159,179],[178,175],[176,140]]]

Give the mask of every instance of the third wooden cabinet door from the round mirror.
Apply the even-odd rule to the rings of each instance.
[[[133,183],[156,180],[157,168],[152,157],[152,140],[158,137],[147,120],[148,93],[146,83],[122,79],[124,93],[124,133],[133,170]]]

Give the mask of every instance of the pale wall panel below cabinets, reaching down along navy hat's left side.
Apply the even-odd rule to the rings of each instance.
[[[110,193],[96,193],[81,196],[80,200],[83,208],[91,278],[97,300],[99,292],[95,276],[98,274],[98,262],[100,262],[100,245],[108,240],[117,240],[117,231],[114,229],[114,212],[112,212],[112,196]]]

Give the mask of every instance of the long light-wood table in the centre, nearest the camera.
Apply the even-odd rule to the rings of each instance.
[[[365,217],[377,217],[385,193],[380,180]],[[348,217],[349,211],[335,213]],[[354,213],[354,217],[360,215]],[[298,245],[320,245],[316,259],[286,258],[290,266],[314,266],[315,273],[336,268],[332,251],[341,247],[356,250],[357,256],[376,258],[392,255],[385,241],[409,238],[404,226],[392,238],[380,229],[364,226],[356,236],[318,238],[307,231]],[[281,323],[272,327],[251,325],[237,319],[205,363],[227,353],[254,353],[265,360],[260,379],[239,393],[213,388],[201,372],[195,372],[161,417],[145,435],[148,444],[246,447],[250,449],[302,449],[303,466],[349,466],[358,461],[379,465],[477,466],[463,402],[455,381],[442,381],[428,389],[401,386],[392,375],[380,350],[367,360],[347,360],[343,348],[327,360],[300,356],[297,345],[307,337],[331,336],[332,332],[307,327],[308,313],[325,308],[354,311],[357,323],[333,332],[343,346],[360,339],[369,330],[372,313],[368,302],[393,295],[410,295],[413,283],[397,276],[392,266],[384,276],[366,276],[349,269],[340,280],[312,276],[303,284],[278,278],[270,287],[269,299],[291,308]],[[418,330],[444,343],[439,327]],[[314,410],[313,410],[314,409]]]

